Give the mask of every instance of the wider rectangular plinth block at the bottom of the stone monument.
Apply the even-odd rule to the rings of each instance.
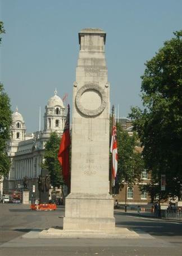
[[[112,196],[70,193],[66,197],[63,230],[114,231]]]

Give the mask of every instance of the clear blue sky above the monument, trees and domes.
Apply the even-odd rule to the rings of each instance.
[[[55,87],[69,94],[78,59],[82,28],[106,31],[111,104],[126,117],[141,106],[140,76],[151,59],[182,29],[181,0],[1,0],[6,34],[1,45],[1,80],[24,117],[28,131],[38,130],[39,105],[44,108]]]

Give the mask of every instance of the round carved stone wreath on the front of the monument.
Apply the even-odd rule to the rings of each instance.
[[[99,96],[101,97],[101,105],[96,109],[87,109],[81,105],[81,95],[83,95],[84,92],[88,90],[98,92]],[[85,114],[85,116],[97,116],[98,114],[102,113],[104,108],[106,108],[106,93],[104,92],[102,87],[95,85],[94,83],[87,83],[78,90],[75,102],[76,107],[79,109],[81,113]]]

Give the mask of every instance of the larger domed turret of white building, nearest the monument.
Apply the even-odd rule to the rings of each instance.
[[[46,133],[57,131],[62,134],[65,126],[65,106],[63,105],[62,99],[57,94],[58,92],[55,90],[54,96],[48,100],[48,103],[45,106],[44,132]]]

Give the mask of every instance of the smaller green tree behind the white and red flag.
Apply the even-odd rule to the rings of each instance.
[[[143,159],[141,153],[136,150],[139,146],[137,133],[129,136],[128,132],[122,129],[121,124],[117,123],[117,179],[120,184],[127,183],[128,186],[133,187],[135,181],[140,179]]]

